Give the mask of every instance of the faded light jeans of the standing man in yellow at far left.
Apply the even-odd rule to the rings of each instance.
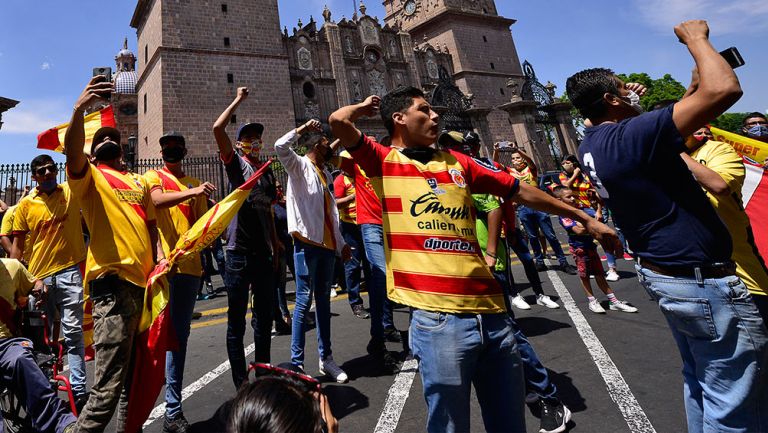
[[[72,393],[85,394],[85,345],[83,344],[83,277],[77,265],[70,266],[45,278],[48,286],[48,317],[61,311],[61,332],[67,347],[69,380]],[[53,323],[51,323],[52,325]]]

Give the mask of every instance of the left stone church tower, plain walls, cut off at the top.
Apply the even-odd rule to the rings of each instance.
[[[248,99],[230,119],[264,124],[269,149],[295,127],[288,56],[277,0],[138,0],[131,19],[138,36],[139,158],[160,155],[158,139],[182,133],[190,156],[214,156],[211,128],[234,99]]]

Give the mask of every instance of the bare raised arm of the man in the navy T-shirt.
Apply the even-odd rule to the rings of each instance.
[[[706,21],[681,23],[675,27],[675,34],[688,47],[699,75],[697,88],[675,104],[672,112],[677,130],[687,137],[701,125],[723,114],[741,98],[743,92],[731,66],[712,47]]]

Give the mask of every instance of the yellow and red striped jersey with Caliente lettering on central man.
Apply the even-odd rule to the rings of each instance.
[[[506,311],[477,241],[471,193],[510,197],[518,182],[460,153],[436,151],[422,164],[365,136],[350,153],[381,197],[389,298],[430,311]]]

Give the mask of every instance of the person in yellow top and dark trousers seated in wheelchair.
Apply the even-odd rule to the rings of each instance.
[[[32,342],[19,338],[13,320],[17,303],[25,303],[30,294],[44,298],[43,281],[18,260],[0,259],[0,386],[22,402],[35,431],[70,433],[77,419],[51,388],[35,361]]]

